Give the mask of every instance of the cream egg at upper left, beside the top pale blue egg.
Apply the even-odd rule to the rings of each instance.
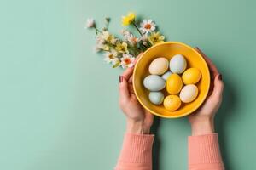
[[[162,75],[168,70],[168,65],[168,59],[160,57],[151,62],[148,70],[150,74]]]

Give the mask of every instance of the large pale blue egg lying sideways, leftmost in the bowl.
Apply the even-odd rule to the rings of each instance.
[[[155,92],[160,91],[166,87],[166,81],[158,75],[149,75],[143,80],[143,85],[149,91]]]

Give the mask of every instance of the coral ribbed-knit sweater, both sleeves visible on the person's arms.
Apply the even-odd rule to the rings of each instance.
[[[115,170],[151,170],[154,135],[126,133]],[[189,136],[189,170],[224,170],[218,134]]]

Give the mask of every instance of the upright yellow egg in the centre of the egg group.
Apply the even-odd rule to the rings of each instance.
[[[183,88],[183,80],[177,74],[172,74],[166,81],[166,90],[169,94],[178,94]]]

